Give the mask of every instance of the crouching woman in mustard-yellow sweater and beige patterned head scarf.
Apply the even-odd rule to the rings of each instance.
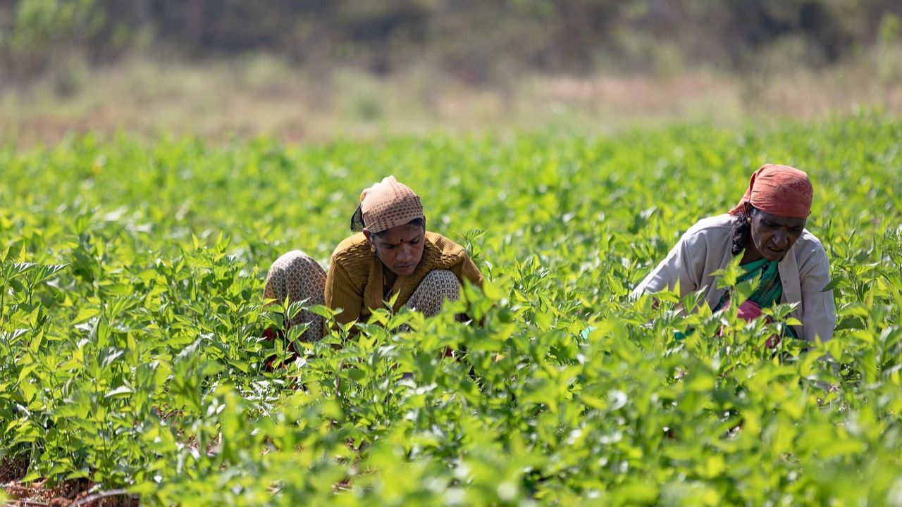
[[[435,315],[444,300],[456,300],[467,279],[482,286],[483,276],[459,244],[426,230],[419,196],[393,176],[360,196],[351,218],[358,231],[338,244],[329,272],[306,253],[294,250],[272,263],[263,298],[341,309],[336,321],[364,322],[373,309],[385,308],[394,294],[394,310],[407,306]],[[290,325],[308,323],[303,341],[323,336],[324,322],[302,310]]]

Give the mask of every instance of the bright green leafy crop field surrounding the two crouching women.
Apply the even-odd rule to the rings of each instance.
[[[772,327],[735,306],[630,300],[766,161],[814,183],[833,340],[769,349]],[[87,135],[2,148],[0,174],[0,504],[81,484],[110,505],[902,505],[895,119],[309,146]],[[270,371],[287,354],[262,330],[299,308],[264,308],[266,270],[293,249],[327,263],[390,174],[484,291],[436,318],[381,310]]]

